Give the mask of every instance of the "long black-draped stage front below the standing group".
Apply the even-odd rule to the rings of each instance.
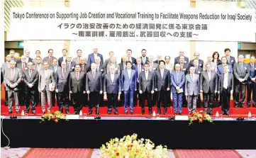
[[[138,134],[168,149],[256,149],[256,120],[213,118],[213,124],[188,120],[152,120],[145,117],[87,117],[45,121],[39,116],[2,118],[4,134],[11,147],[98,148],[111,138]],[[78,117],[78,116],[77,116]],[[15,132],[13,132],[15,131]],[[1,145],[8,140],[1,133]],[[191,142],[191,143],[190,143]]]

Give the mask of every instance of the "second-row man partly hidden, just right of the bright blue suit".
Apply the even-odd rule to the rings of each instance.
[[[140,73],[144,71],[143,64],[141,63],[141,58],[137,57],[136,59],[137,64],[133,66],[133,69],[135,70],[136,77],[137,77],[137,87],[139,87],[139,77]],[[138,96],[138,97],[137,97]],[[133,106],[137,106],[137,102],[139,100],[140,106],[142,105],[142,95],[140,94],[139,90],[135,91],[134,97],[133,97]]]

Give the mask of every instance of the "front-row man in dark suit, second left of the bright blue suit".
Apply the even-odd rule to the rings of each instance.
[[[91,101],[88,115],[92,114],[93,106],[96,106],[96,115],[99,115],[99,98],[103,90],[101,72],[96,72],[96,64],[91,64],[91,72],[87,73],[85,87]]]

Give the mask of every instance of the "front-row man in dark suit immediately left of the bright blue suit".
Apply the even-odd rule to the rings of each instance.
[[[118,94],[121,94],[121,77],[120,74],[115,73],[115,67],[109,67],[110,73],[105,74],[104,77],[104,94],[108,98],[108,115],[113,112],[118,115],[117,101]]]

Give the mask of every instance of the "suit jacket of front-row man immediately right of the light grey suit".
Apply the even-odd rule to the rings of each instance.
[[[62,69],[58,69],[56,74],[55,74],[55,82],[56,86],[55,89],[58,90],[59,93],[65,92],[69,90],[69,74],[71,71],[68,69],[65,70],[64,77],[62,76]]]

